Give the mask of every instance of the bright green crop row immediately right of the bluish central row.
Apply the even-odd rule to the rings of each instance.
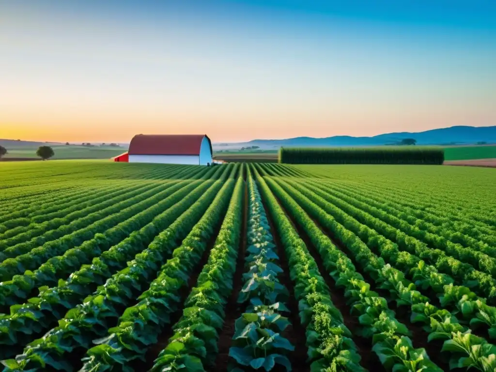
[[[311,369],[364,371],[352,334],[344,325],[342,314],[332,303],[329,288],[315,260],[265,181],[256,169],[254,172],[288,258],[290,277],[299,301],[300,320],[307,330],[306,345]]]

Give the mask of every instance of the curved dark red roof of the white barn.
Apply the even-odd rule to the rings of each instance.
[[[136,134],[129,144],[129,155],[199,155],[205,134]]]

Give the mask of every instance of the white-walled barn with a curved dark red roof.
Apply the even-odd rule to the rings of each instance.
[[[129,163],[212,164],[206,134],[136,134],[127,153]]]

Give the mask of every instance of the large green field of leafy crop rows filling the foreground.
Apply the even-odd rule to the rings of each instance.
[[[17,371],[496,371],[496,172],[0,164]]]

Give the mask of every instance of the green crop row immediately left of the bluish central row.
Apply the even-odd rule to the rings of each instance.
[[[173,335],[155,360],[152,371],[203,372],[212,366],[223,327],[224,306],[233,290],[240,243],[243,190],[239,178],[206,265],[191,289]]]

